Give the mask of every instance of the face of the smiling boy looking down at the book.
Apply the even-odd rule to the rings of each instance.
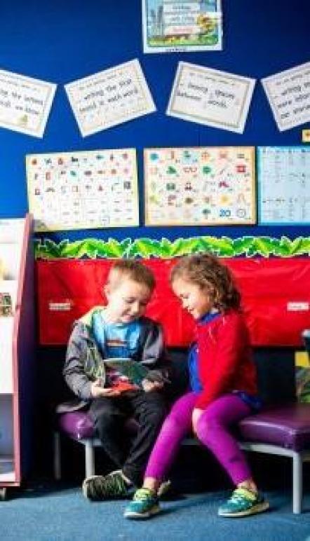
[[[107,315],[112,323],[129,323],[144,314],[151,291],[145,284],[121,278],[105,287]]]

